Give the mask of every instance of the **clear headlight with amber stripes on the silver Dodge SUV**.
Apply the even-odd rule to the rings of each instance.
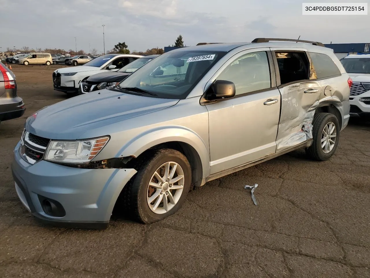
[[[78,141],[50,141],[44,159],[60,163],[90,162],[108,143],[109,137]]]

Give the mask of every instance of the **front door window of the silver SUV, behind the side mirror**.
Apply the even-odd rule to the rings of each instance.
[[[217,80],[233,82],[235,95],[271,88],[267,53],[253,52],[239,57],[222,71]]]

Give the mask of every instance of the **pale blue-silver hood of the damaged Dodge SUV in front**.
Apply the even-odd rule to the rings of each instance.
[[[103,89],[44,107],[26,120],[25,128],[37,136],[49,139],[87,139],[80,137],[87,130],[91,132],[102,126],[165,109],[178,101]],[[122,122],[122,130],[124,128]],[[96,134],[94,137],[104,135],[107,134]]]

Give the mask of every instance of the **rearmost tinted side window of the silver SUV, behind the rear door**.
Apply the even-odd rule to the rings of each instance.
[[[332,58],[322,53],[309,52],[317,78],[340,75],[340,70]]]

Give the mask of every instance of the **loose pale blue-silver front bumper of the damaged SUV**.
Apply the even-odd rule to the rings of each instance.
[[[79,169],[41,160],[27,163],[14,149],[11,171],[23,205],[41,222],[53,226],[105,229],[115,202],[135,169]],[[56,201],[64,216],[51,216],[43,199]]]

